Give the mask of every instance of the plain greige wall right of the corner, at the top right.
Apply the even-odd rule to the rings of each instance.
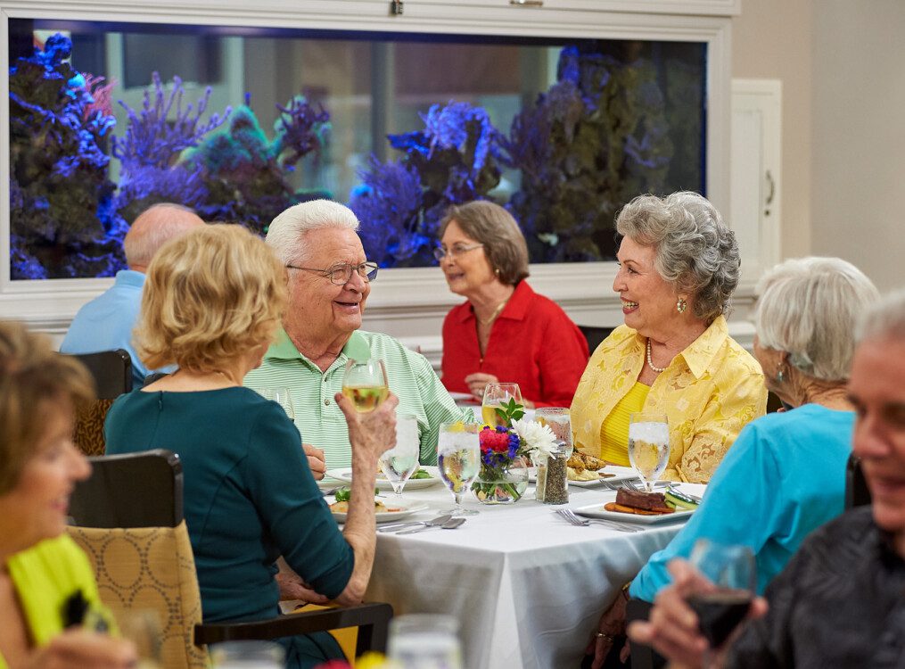
[[[816,8],[815,8],[816,9]],[[905,3],[814,12],[812,249],[905,286]]]

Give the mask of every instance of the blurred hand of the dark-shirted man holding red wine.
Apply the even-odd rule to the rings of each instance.
[[[672,585],[657,593],[648,622],[634,622],[628,626],[628,636],[639,644],[652,645],[660,655],[674,663],[700,667],[708,649],[707,639],[700,634],[698,616],[688,606],[686,599],[701,588],[713,586],[683,559],[673,559],[669,570]],[[757,618],[766,613],[767,600],[755,597],[751,602],[748,618]],[[722,646],[723,651],[731,645],[735,636],[729,637]],[[725,653],[711,657],[711,666],[722,666],[723,655]]]

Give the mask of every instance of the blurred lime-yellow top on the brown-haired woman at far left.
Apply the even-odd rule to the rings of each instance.
[[[81,592],[90,607],[105,610],[88,558],[63,534],[22,550],[6,562],[9,578],[19,597],[25,627],[36,646],[47,645],[66,626],[66,601]],[[0,655],[0,669],[6,669]]]

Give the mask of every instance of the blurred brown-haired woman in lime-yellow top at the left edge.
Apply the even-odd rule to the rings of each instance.
[[[125,669],[131,644],[90,632],[100,607],[88,559],[63,533],[72,486],[90,465],[72,444],[88,372],[23,326],[0,321],[0,668]]]

